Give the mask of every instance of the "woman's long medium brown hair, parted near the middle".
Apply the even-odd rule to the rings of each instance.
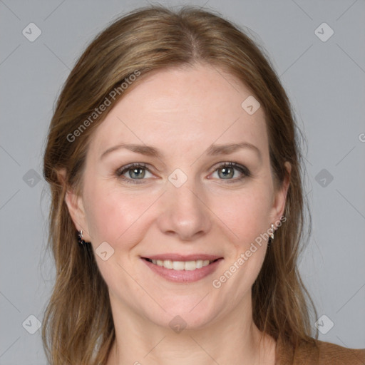
[[[51,120],[43,175],[51,187],[48,245],[56,262],[56,283],[43,319],[42,337],[53,365],[105,364],[115,339],[106,282],[91,245],[78,245],[65,195],[69,187],[82,189],[88,141],[125,93],[120,91],[112,105],[86,123],[87,128],[80,130],[80,126],[136,71],[142,80],[153,71],[196,63],[227,71],[259,100],[277,187],[287,175],[284,163],[292,166],[284,209],[287,221],[275,232],[253,284],[252,315],[259,330],[276,340],[281,338],[294,346],[299,341],[312,341],[309,303],[316,316],[317,312],[297,267],[305,238],[304,218],[310,215],[304,214],[302,157],[287,94],[264,51],[238,26],[212,11],[151,6],[114,21],[86,48],[63,86]],[[69,136],[76,134],[70,141]],[[64,179],[60,171],[66,172]]]

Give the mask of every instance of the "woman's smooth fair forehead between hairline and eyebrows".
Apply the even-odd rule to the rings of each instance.
[[[91,153],[138,143],[197,155],[212,143],[242,141],[268,153],[264,111],[258,108],[250,115],[242,108],[252,93],[235,77],[207,65],[168,68],[142,77],[98,126]]]

